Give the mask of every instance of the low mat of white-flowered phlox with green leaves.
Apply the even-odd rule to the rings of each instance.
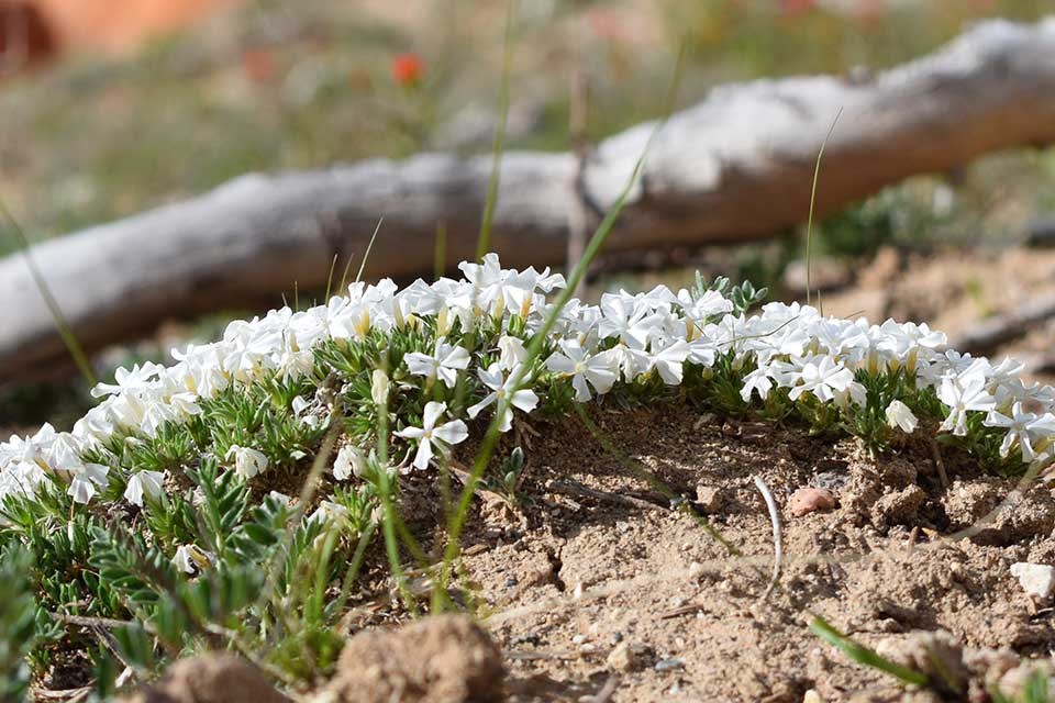
[[[573,403],[677,400],[848,432],[876,451],[936,431],[1007,472],[1055,458],[1055,390],[1012,360],[946,349],[925,324],[756,309],[765,291],[725,279],[555,310],[565,280],[549,269],[503,269],[493,254],[459,268],[232,322],[170,366],[120,369],[70,432],[0,444],[0,545],[34,555],[38,607],[138,623],[120,639],[142,667],[196,633],[232,646],[285,633],[269,656],[310,680],[338,650],[326,628],[387,481],[443,466],[481,423],[509,432]],[[327,438],[322,494],[300,505],[289,494]],[[34,656],[71,636],[42,631]]]

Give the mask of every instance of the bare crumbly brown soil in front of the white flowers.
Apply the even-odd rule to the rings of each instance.
[[[577,420],[537,426],[522,525],[485,520],[465,545],[484,624],[507,652],[510,700],[581,700],[617,680],[613,701],[798,702],[810,689],[823,701],[921,700],[814,637],[811,614],[870,646],[914,631],[1020,655],[1055,646],[1051,611],[1009,571],[1055,557],[1050,488],[953,540],[945,535],[989,513],[1013,482],[979,476],[948,449],[945,488],[929,443],[871,459],[852,439],[756,432],[684,406],[596,417],[677,494],[692,501],[702,487],[717,507],[710,526],[740,556],[669,510]],[[765,601],[774,543],[755,475],[784,523],[780,584]],[[830,490],[836,507],[793,515],[802,487]]]

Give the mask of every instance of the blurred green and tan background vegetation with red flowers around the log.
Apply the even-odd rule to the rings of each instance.
[[[576,70],[590,77],[591,141],[655,118],[682,43],[681,102],[689,104],[730,80],[879,70],[933,51],[971,22],[1033,21],[1051,9],[1050,0],[520,2],[507,147],[569,147]],[[9,78],[0,83],[2,194],[38,241],[247,171],[427,148],[487,152],[504,11],[500,0],[252,0],[132,55],[71,56]],[[859,261],[882,246],[1013,244],[1055,210],[1053,185],[1052,149],[913,178],[819,223],[817,253]],[[803,219],[806,211],[803,203]],[[749,279],[780,297],[801,242],[792,231],[773,244],[696,255],[686,271]],[[14,246],[0,234],[0,254]],[[676,282],[688,274],[666,276]],[[615,275],[599,283],[617,284],[643,281]],[[177,337],[210,337],[201,332]],[[179,338],[123,349],[99,370],[164,359]],[[80,401],[70,403],[71,393]],[[0,425],[36,425],[55,408],[76,416],[86,400],[63,383],[0,388]]]

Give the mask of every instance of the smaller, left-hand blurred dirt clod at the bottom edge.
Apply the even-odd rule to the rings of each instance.
[[[291,703],[242,659],[216,652],[173,665],[125,703]]]

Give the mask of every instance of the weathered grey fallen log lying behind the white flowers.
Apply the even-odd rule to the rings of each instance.
[[[996,149],[1055,142],[1055,19],[980,24],[935,54],[875,78],[758,80],[713,90],[653,141],[609,248],[770,236],[804,220],[818,149],[836,112],[818,191],[821,215],[913,174]],[[582,174],[593,214],[624,187],[654,124],[602,142]],[[89,349],[166,316],[275,303],[293,281],[324,286],[334,254],[367,275],[473,255],[490,157],[425,154],[325,170],[246,176],[200,198],[41,244],[33,256]],[[576,205],[570,154],[502,159],[492,248],[504,263],[559,264]],[[66,364],[24,260],[0,260],[0,379]]]

